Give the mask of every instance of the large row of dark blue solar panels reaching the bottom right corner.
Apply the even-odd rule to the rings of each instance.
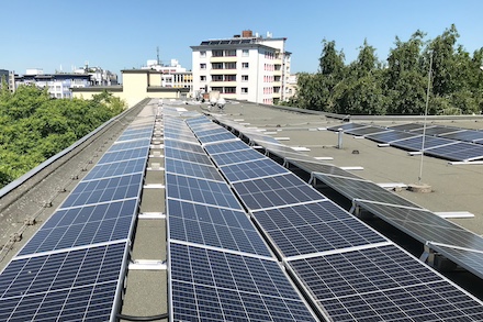
[[[191,129],[196,134],[198,126]],[[212,142],[206,151],[214,145]],[[479,300],[292,173],[285,173],[277,163],[273,162],[270,174],[266,167],[255,166],[243,178],[233,177],[234,163],[225,165],[224,154],[236,160],[233,156],[246,149],[224,147],[225,153],[216,149],[210,156],[321,318],[333,321],[483,319]]]

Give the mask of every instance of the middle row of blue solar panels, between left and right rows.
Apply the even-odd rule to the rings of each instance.
[[[165,111],[165,133],[182,132],[184,142],[193,142],[180,148],[176,135],[165,138],[171,320],[315,321],[233,190],[213,163],[201,157],[201,143],[184,136],[189,124],[198,130],[191,136],[206,149],[240,141],[204,116],[184,122],[168,116],[172,109]],[[232,155],[220,162],[232,167],[237,159],[244,158]],[[270,173],[263,165],[258,169]],[[232,167],[231,174],[243,180],[243,171]]]

